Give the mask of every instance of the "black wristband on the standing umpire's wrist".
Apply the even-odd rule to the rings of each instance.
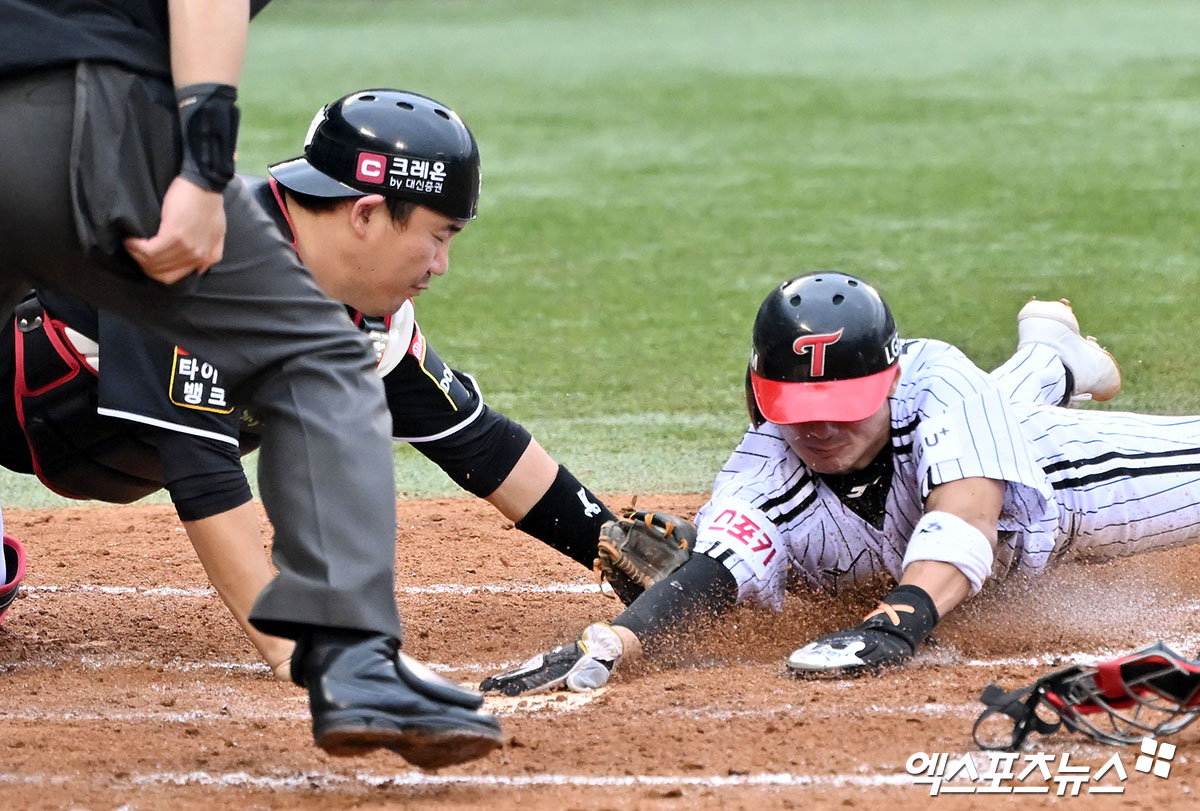
[[[182,178],[210,192],[224,191],[238,149],[238,89],[205,82],[175,89],[182,137]]]

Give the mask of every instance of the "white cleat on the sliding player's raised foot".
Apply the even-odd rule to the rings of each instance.
[[[1072,400],[1112,400],[1121,391],[1121,367],[1096,338],[1079,331],[1066,299],[1031,299],[1016,314],[1016,346],[1042,343],[1054,349],[1070,371]]]

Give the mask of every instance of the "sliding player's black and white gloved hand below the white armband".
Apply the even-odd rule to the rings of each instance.
[[[898,585],[858,627],[827,633],[787,657],[797,675],[858,675],[912,656],[937,624],[924,589]]]

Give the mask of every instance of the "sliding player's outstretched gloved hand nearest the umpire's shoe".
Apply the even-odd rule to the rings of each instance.
[[[583,629],[580,638],[558,645],[550,653],[538,654],[521,667],[490,675],[479,685],[484,692],[505,696],[542,692],[565,687],[587,692],[608,683],[612,668],[620,661],[624,645],[620,637],[605,623]]]

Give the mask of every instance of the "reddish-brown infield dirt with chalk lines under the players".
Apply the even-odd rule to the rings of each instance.
[[[638,499],[685,513],[702,500]],[[1138,771],[1136,749],[1036,739],[1028,752],[1050,753],[1056,776],[1063,755],[1090,770],[1121,756],[1124,781],[1110,771],[1078,797],[1034,773],[1009,786],[1045,793],[984,795],[985,783],[958,781],[948,786],[970,793],[931,798],[906,771],[917,752],[953,763],[973,749],[989,681],[1020,686],[1074,655],[1156,638],[1195,654],[1200,547],[1006,584],[878,678],[788,678],[793,648],[871,602],[794,595],[781,615],[739,612],[596,696],[510,699],[497,707],[502,750],[426,773],[312,745],[305,693],[258,663],[169,506],[6,510],[5,521],[30,561],[0,626],[4,809],[1117,809],[1186,807],[1200,789],[1200,725],[1171,739],[1166,777]],[[618,611],[588,572],[481,501],[403,501],[400,528],[406,648],[456,680],[478,683]],[[1098,787],[1123,791],[1088,792]]]

